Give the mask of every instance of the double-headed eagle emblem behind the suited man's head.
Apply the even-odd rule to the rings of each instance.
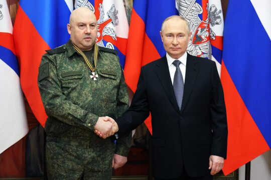
[[[216,38],[212,26],[222,23],[220,15],[222,10],[218,10],[214,4],[209,7],[208,3],[206,9],[203,9],[200,4],[196,3],[196,0],[176,0],[176,8],[179,10],[179,14],[188,20],[192,32],[187,51],[192,55],[211,59],[210,39]],[[203,11],[207,11],[208,14],[205,20],[201,20],[199,17]]]

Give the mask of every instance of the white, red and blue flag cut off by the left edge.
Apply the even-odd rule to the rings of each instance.
[[[13,27],[6,0],[0,0],[0,153],[28,132]]]

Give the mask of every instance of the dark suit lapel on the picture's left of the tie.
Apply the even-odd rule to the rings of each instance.
[[[172,105],[178,112],[180,112],[177,100],[175,98],[166,56],[162,57],[160,60],[157,60],[155,72],[161,81],[162,86],[164,87],[164,90],[166,91],[166,94],[168,95]]]

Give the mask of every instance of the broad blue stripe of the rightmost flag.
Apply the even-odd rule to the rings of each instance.
[[[224,28],[224,36],[228,38],[223,44],[223,52],[229,53],[223,54],[223,61],[252,118],[271,146],[271,42],[249,0],[229,3],[232,4],[228,5]]]

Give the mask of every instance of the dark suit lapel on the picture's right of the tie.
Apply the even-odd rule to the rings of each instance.
[[[196,77],[198,75],[199,67],[197,63],[198,63],[197,59],[195,59],[192,55],[187,54],[184,95],[183,95],[181,112],[184,110],[188,102]]]

